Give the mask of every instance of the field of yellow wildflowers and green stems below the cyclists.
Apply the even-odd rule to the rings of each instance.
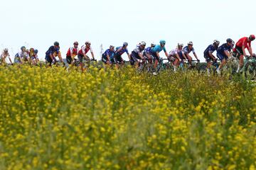
[[[256,86],[0,67],[0,169],[256,169]]]

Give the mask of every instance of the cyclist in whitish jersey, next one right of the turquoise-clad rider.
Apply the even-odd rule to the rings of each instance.
[[[174,72],[177,71],[177,67],[179,64],[181,64],[181,62],[183,62],[183,59],[186,59],[186,56],[183,52],[183,44],[178,43],[176,49],[171,50],[171,52],[169,52],[169,57],[168,57],[168,60],[170,62],[173,62],[174,64]]]

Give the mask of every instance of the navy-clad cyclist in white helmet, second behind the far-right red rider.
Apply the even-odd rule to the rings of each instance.
[[[210,66],[212,65],[212,62],[215,62],[217,59],[216,57],[213,55],[213,52],[215,52],[215,50],[218,50],[218,46],[220,45],[220,41],[218,40],[214,40],[213,44],[209,45],[206,50],[203,52],[203,56],[206,59],[207,62],[207,73],[208,75],[210,74]]]

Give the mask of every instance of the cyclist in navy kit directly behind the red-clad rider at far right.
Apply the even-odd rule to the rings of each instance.
[[[226,64],[228,57],[230,56],[230,52],[232,49],[232,43],[233,43],[233,40],[231,38],[228,38],[226,40],[226,43],[224,43],[223,45],[220,45],[220,47],[218,47],[217,57],[221,61],[221,64],[217,69],[218,74],[220,74],[220,69],[222,69],[222,67]]]

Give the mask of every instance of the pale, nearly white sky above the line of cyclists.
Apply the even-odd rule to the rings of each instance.
[[[142,40],[149,45],[164,39],[168,51],[177,42],[193,41],[203,60],[203,50],[215,39],[223,43],[256,34],[255,5],[252,0],[3,0],[0,48],[15,55],[22,45],[34,47],[44,59],[54,41],[60,42],[65,57],[74,41],[81,46],[90,40],[100,60],[101,44],[106,50],[126,41],[132,51]]]

